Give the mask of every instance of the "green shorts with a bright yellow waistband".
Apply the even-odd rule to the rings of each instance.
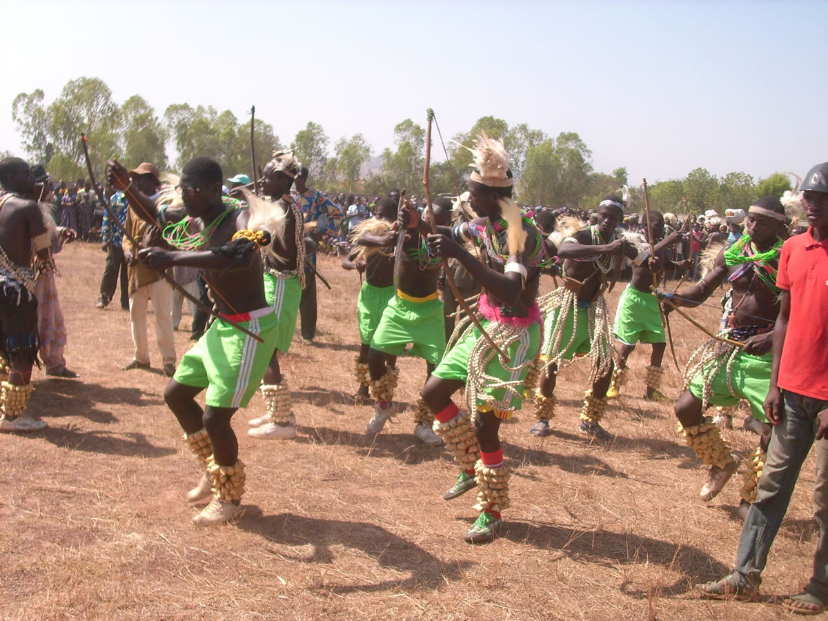
[[[393,296],[383,310],[371,349],[398,356],[412,343],[411,354],[427,363],[440,362],[445,350],[443,303],[437,297],[424,302]]]

